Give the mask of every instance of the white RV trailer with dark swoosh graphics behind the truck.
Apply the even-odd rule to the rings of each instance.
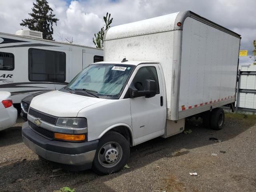
[[[0,33],[0,91],[14,104],[29,94],[58,90],[83,68],[103,61],[103,50],[42,39],[42,33],[20,30]]]

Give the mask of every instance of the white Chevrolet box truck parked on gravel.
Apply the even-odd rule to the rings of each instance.
[[[240,35],[190,11],[114,26],[104,62],[32,100],[23,141],[47,160],[108,174],[130,146],[182,132],[186,117],[221,129],[239,46]]]

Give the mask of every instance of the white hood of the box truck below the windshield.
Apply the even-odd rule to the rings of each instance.
[[[106,99],[51,91],[34,97],[30,107],[57,117],[76,117],[78,112]]]

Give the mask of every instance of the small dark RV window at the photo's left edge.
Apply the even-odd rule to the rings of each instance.
[[[0,70],[14,70],[14,54],[0,52]]]

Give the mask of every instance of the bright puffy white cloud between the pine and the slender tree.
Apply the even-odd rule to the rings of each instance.
[[[60,38],[73,37],[76,44],[94,46],[92,37],[100,26],[103,26],[103,17],[88,12],[86,6],[78,1],[71,1],[69,6],[63,7],[54,4],[56,17],[60,19],[57,27],[54,27],[54,38],[60,40]]]

